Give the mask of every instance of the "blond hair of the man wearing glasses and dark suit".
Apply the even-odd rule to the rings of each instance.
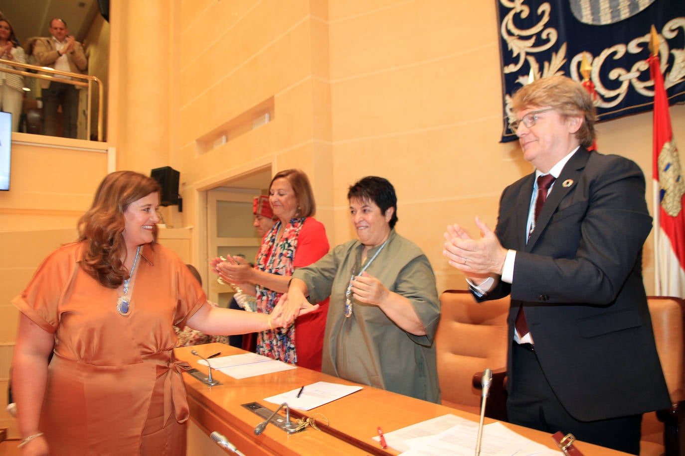
[[[512,97],[512,111],[523,111],[529,107],[553,107],[562,116],[582,116],[583,124],[575,137],[581,146],[589,147],[595,141],[597,111],[590,94],[577,81],[566,76],[551,76],[537,79],[516,91]]]

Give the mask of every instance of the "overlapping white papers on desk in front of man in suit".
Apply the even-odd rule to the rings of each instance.
[[[448,414],[385,433],[385,439],[388,446],[401,451],[403,456],[473,456],[477,434],[478,423]],[[378,440],[377,437],[374,439]],[[483,427],[480,452],[483,456],[560,454],[560,451],[533,442],[501,423]]]

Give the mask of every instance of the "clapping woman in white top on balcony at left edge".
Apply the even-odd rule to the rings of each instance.
[[[26,63],[24,50],[15,46],[14,29],[7,19],[0,19],[0,59],[13,60],[21,64]],[[14,68],[8,64],[0,64],[0,68]],[[23,68],[16,68],[23,69]],[[0,111],[12,114],[12,131],[18,131],[21,116],[24,78],[20,75],[0,71]]]

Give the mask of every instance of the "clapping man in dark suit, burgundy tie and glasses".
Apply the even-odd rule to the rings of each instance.
[[[671,405],[642,278],[645,177],[588,151],[595,109],[572,79],[526,85],[512,111],[536,170],[503,191],[495,232],[449,226],[444,254],[477,299],[511,295],[510,421],[638,454],[642,414]]]

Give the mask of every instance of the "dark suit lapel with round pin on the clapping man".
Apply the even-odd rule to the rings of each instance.
[[[580,181],[580,176],[583,172],[585,164],[589,158],[590,152],[581,146],[575,152],[575,154],[573,154],[573,157],[569,159],[566,165],[564,165],[564,169],[561,170],[561,174],[559,174],[559,177],[554,181],[554,186],[547,196],[547,201],[545,201],[543,210],[540,211],[540,216],[536,220],[535,230],[533,231],[530,239],[528,239],[528,243],[526,245],[526,250],[528,252],[530,252],[532,246],[535,245],[536,241],[540,237],[540,233],[547,228],[549,219],[551,219],[552,214],[558,208],[561,200],[563,200],[571,191],[575,190],[576,185],[578,185],[578,182]],[[530,208],[530,204],[528,204],[527,207]]]

